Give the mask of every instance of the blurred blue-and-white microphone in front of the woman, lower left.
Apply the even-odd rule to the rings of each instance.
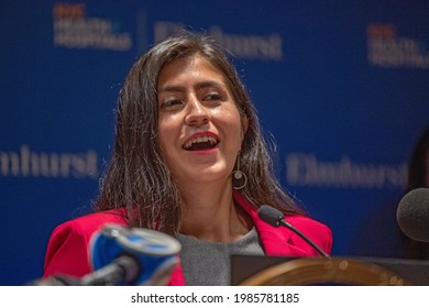
[[[180,243],[168,234],[148,229],[107,224],[89,242],[94,272],[81,278],[56,275],[38,286],[163,286],[178,264]]]

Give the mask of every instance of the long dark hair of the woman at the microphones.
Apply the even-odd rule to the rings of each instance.
[[[256,112],[228,52],[209,36],[187,31],[154,45],[130,69],[119,95],[114,151],[100,180],[96,211],[127,207],[131,227],[178,232],[180,191],[160,152],[156,89],[166,64],[196,55],[223,73],[249,121],[240,153],[240,168],[249,179],[242,196],[256,208],[268,204],[286,213],[306,215],[274,176]]]

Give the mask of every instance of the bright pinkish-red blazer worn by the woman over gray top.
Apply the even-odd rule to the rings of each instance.
[[[240,194],[234,194],[234,199],[252,218],[266,255],[318,255],[314,248],[289,229],[274,228],[262,221],[257,216],[257,209]],[[287,216],[286,220],[310,238],[324,252],[331,253],[332,232],[330,228],[304,216]],[[127,226],[125,210],[90,213],[56,227],[47,245],[43,277],[56,274],[81,277],[92,272],[89,262],[89,241],[92,234],[107,223]],[[168,285],[185,285],[180,265],[173,273]]]

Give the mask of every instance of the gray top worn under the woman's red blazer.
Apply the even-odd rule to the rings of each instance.
[[[188,286],[231,285],[231,255],[264,255],[256,229],[231,243],[211,243],[178,234],[179,257]]]

